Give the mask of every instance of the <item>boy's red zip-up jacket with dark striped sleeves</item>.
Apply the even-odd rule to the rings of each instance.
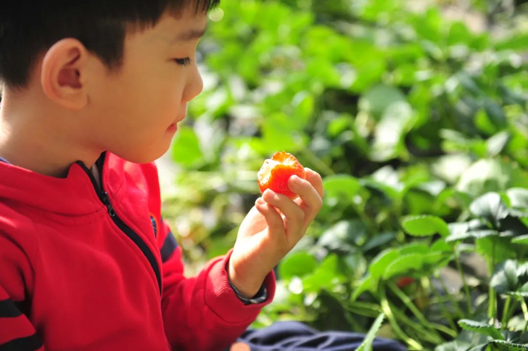
[[[102,191],[82,162],[67,178],[0,162],[0,349],[221,350],[268,299],[244,305],[230,253],[195,278],[161,218],[154,163],[109,152]]]

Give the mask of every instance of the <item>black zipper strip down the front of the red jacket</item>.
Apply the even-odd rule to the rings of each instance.
[[[93,184],[93,187],[95,188],[96,190],[96,193],[97,193],[97,196],[99,198],[99,200],[101,200],[101,202],[106,206],[107,208],[107,212],[110,216],[110,218],[112,219],[112,221],[115,223],[115,225],[122,231],[125,233],[125,235],[130,238],[130,240],[132,240],[136,246],[139,248],[139,250],[141,250],[143,252],[143,255],[145,255],[145,257],[147,258],[149,264],[150,264],[150,267],[152,267],[152,270],[154,271],[154,274],[156,276],[156,280],[158,282],[158,288],[159,288],[159,294],[161,295],[161,291],[162,291],[162,278],[161,278],[161,274],[159,272],[159,267],[158,267],[158,264],[156,262],[156,258],[154,257],[154,254],[152,253],[152,251],[150,251],[150,249],[148,248],[147,244],[145,243],[145,241],[143,241],[138,235],[137,233],[132,230],[130,227],[128,227],[125,222],[123,222],[118,216],[117,216],[117,213],[116,211],[114,210],[114,207],[112,207],[112,204],[110,202],[110,197],[108,196],[108,192],[105,191],[105,188],[103,187],[103,183],[102,183],[102,170],[103,170],[103,164],[105,163],[105,157],[106,157],[106,152],[103,152],[101,154],[101,157],[99,158],[99,160],[97,160],[97,165],[98,165],[98,169],[99,169],[99,183],[101,184],[101,189],[99,190],[99,187],[97,186],[97,181],[95,179],[95,177],[93,177],[93,174],[92,172],[86,167],[86,165],[84,165],[84,163],[82,163],[81,161],[77,161],[77,163],[84,169],[84,171],[88,174],[88,177],[90,177],[90,180]]]

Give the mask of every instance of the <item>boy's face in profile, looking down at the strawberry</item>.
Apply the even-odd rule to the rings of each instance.
[[[185,11],[130,32],[122,66],[87,81],[90,139],[97,147],[137,163],[168,150],[174,123],[185,118],[187,102],[203,88],[195,50],[206,21],[205,14]]]

